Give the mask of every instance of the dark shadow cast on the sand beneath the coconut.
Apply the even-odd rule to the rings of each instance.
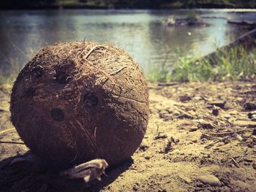
[[[129,158],[123,164],[106,170],[108,176],[102,180],[85,183],[83,179],[67,179],[59,171],[37,158],[23,160],[24,155],[16,155],[0,161],[0,191],[100,191],[132,165]]]

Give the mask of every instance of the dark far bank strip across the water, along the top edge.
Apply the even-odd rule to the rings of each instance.
[[[256,8],[254,1],[4,1],[0,9],[195,9]]]

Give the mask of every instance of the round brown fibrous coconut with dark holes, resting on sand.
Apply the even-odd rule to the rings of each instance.
[[[120,164],[140,146],[148,89],[138,64],[112,45],[58,43],[24,66],[11,120],[31,151],[58,166],[103,158]]]

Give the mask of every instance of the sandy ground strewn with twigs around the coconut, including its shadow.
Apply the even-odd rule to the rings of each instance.
[[[0,134],[0,191],[256,191],[256,82],[150,84],[148,130],[101,181],[67,180],[31,162],[15,130]],[[0,91],[0,131],[13,128]]]

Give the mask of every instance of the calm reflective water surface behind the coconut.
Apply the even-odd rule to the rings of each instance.
[[[246,31],[227,24],[227,18],[256,22],[256,12],[249,10],[194,11],[210,26],[173,28],[163,25],[169,15],[186,17],[186,9],[0,11],[0,67],[7,73],[12,69],[10,66],[24,66],[41,47],[85,39],[121,47],[148,72],[164,62],[173,64],[177,50],[184,55],[204,55]]]

